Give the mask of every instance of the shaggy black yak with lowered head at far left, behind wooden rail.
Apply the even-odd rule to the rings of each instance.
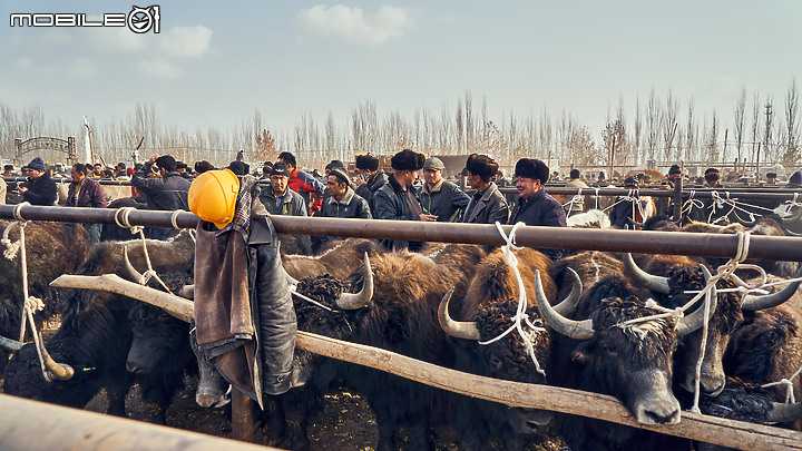
[[[129,277],[124,265],[123,246],[129,246],[131,264],[143,271],[147,265],[143,261],[141,242],[99,243],[94,246],[89,257],[79,267],[78,274],[100,275],[117,274]],[[172,242],[148,241],[148,253],[154,266],[160,275],[173,269],[186,274],[193,259],[193,244],[186,233]],[[178,268],[176,271],[176,268]],[[164,278],[164,277],[163,277]],[[167,277],[169,281],[170,277]],[[182,285],[186,277],[176,285]],[[155,281],[151,281],[155,282]],[[173,286],[170,290],[178,288]],[[108,413],[125,415],[125,396],[135,381],[139,381],[147,402],[159,403],[164,393],[167,370],[185,362],[176,355],[162,355],[159,363],[149,364],[160,369],[148,374],[135,374],[127,371],[126,364],[134,340],[134,316],[149,321],[150,313],[141,312],[141,303],[108,292],[87,290],[67,290],[60,303],[61,325],[47,343],[50,355],[60,363],[76,370],[76,375],[68,381],[45,381],[39,367],[36,349],[28,344],[16,353],[9,362],[3,390],[8,394],[37,399],[61,405],[84,408],[100,389],[106,389],[109,398]],[[156,312],[155,316],[162,318]],[[166,320],[166,318],[165,318]],[[177,337],[177,336],[176,336]],[[178,337],[180,340],[180,337]],[[165,345],[165,347],[169,347]],[[188,343],[186,349],[192,355]],[[194,361],[194,359],[190,359]],[[182,369],[183,374],[183,369]],[[153,399],[151,399],[153,398]],[[166,406],[166,405],[165,405]],[[164,422],[163,408],[154,411],[153,420]]]

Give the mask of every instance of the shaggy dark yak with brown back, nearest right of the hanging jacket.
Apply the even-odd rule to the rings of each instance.
[[[299,292],[305,292],[332,311],[296,298],[299,330],[450,366],[453,355],[437,318],[438,305],[453,286],[457,286],[459,296],[464,295],[466,281],[473,274],[481,251],[472,245],[449,246],[468,246],[473,251],[443,249],[440,255],[450,255],[451,258],[442,263],[437,263],[437,257],[428,258],[420,254],[373,255],[373,300],[370,305],[359,310],[340,310],[335,304],[335,295],[339,296],[342,288],[330,282],[305,281]],[[466,259],[458,259],[456,255],[463,255]],[[352,292],[361,290],[362,277],[362,268],[359,267],[345,280],[345,286],[351,286]],[[398,449],[395,433],[399,428],[407,430],[411,449],[431,448],[428,429],[432,409],[439,409],[443,403],[444,392],[384,372],[317,357],[304,351],[296,351],[293,367],[294,378],[305,382],[307,390],[320,393],[331,383],[343,381],[364,393],[376,415],[379,450]]]

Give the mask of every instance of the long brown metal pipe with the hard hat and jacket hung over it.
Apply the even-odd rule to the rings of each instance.
[[[13,219],[13,206],[0,205],[0,218]],[[115,209],[26,206],[23,219],[71,223],[114,224]],[[173,212],[131,210],[131,225],[172,227]],[[176,214],[180,228],[195,228],[198,217],[192,213]],[[418,242],[475,243],[502,245],[495,225],[421,223],[417,220],[342,219],[305,216],[271,216],[275,229],[295,235],[350,236],[359,238],[390,238]],[[502,226],[506,234],[512,226]],[[634,252],[645,254],[732,257],[735,235],[692,234],[652,231],[612,231],[564,227],[519,227],[516,243],[535,248]],[[802,261],[802,238],[752,236],[749,256],[752,258]]]

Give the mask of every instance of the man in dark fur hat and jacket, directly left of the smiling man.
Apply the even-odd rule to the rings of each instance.
[[[476,194],[470,199],[462,216],[463,223],[507,224],[509,205],[493,182],[498,173],[498,163],[487,155],[473,154],[466,161],[468,184]]]

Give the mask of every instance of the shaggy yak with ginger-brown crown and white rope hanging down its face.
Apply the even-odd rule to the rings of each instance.
[[[524,248],[515,252],[518,271],[527,295],[527,314],[536,326],[542,326],[535,298],[535,271],[539,269],[544,290],[551,302],[557,287],[551,276],[551,261],[544,254]],[[569,288],[570,290],[570,288]],[[489,254],[477,268],[463,297],[452,296],[449,312],[453,320],[475,322],[482,341],[501,335],[510,326],[519,303],[518,280],[500,249]],[[546,365],[549,335],[545,331],[524,330],[532,341],[535,355],[541,369]],[[545,383],[537,371],[528,347],[517,331],[488,344],[449,336],[454,349],[454,367],[460,371],[507,381]],[[505,449],[522,448],[532,434],[544,432],[550,413],[524,409],[509,409],[498,403],[453,395],[454,427],[460,431],[461,448],[480,449],[491,437],[500,437]]]

